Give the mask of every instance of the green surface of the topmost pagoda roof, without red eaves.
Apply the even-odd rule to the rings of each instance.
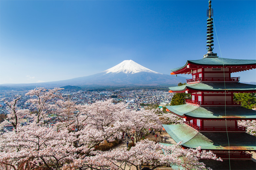
[[[219,57],[205,57],[200,60],[188,60],[185,66],[171,69],[175,72],[182,68],[187,67],[188,64],[194,65],[208,65],[208,66],[245,66],[245,65],[256,65],[256,60],[241,60],[241,59],[229,59]]]

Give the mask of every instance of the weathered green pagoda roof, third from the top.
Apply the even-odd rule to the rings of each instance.
[[[226,106],[226,116],[224,106],[199,107],[191,104],[181,104],[176,106],[166,106],[171,112],[181,117],[191,117],[199,119],[228,119],[228,120],[252,120],[256,119],[256,110],[247,109],[241,106]]]

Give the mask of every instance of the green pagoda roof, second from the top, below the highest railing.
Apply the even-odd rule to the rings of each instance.
[[[225,88],[226,87],[226,88]],[[246,91],[255,92],[256,85],[248,85],[244,83],[193,83],[176,87],[169,87],[173,92],[185,92],[186,90],[194,91]]]

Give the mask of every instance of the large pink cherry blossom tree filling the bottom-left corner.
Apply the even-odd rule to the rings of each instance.
[[[0,163],[11,169],[58,169],[76,158],[76,140],[68,131],[30,123],[4,133],[0,142]],[[82,147],[80,149],[83,149]],[[27,167],[27,168],[25,168]]]

